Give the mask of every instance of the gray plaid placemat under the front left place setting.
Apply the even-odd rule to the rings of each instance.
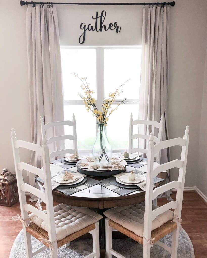
[[[84,184],[81,184],[80,186],[76,186],[76,187],[70,187],[70,188],[59,188],[57,187],[56,190],[64,193],[65,195],[71,195],[73,193],[77,193],[79,191],[82,191],[88,187],[91,186],[95,186],[96,184],[98,184],[100,181],[95,180],[93,178],[87,177],[87,181]]]

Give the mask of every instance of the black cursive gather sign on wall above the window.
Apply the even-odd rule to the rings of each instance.
[[[83,30],[83,33],[79,37],[79,43],[83,44],[85,42],[86,38],[86,31],[96,31],[96,32],[101,32],[102,30],[108,31],[108,30],[115,30],[116,33],[120,33],[121,31],[121,26],[117,25],[117,22],[115,21],[114,23],[109,23],[108,26],[104,25],[104,20],[106,18],[106,11],[102,11],[101,15],[98,16],[98,12],[96,12],[96,16],[93,17],[92,19],[94,20],[94,25],[89,23],[86,25],[85,22],[82,22],[80,24],[80,29]]]

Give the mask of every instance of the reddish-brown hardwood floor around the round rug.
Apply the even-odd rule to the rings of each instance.
[[[175,199],[175,193],[172,198]],[[165,198],[158,199],[158,205],[165,203]],[[35,202],[31,204],[34,205]],[[13,241],[22,229],[20,222],[11,220],[18,213],[20,214],[19,203],[12,207],[0,206],[0,258],[9,258]],[[184,192],[182,219],[182,226],[193,243],[195,258],[207,258],[207,204],[197,193]]]

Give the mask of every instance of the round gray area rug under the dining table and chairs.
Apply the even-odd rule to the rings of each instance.
[[[171,247],[172,233],[160,239],[166,245]],[[42,244],[36,238],[32,237],[33,251],[38,249]],[[142,245],[139,245],[132,239],[114,239],[113,249],[126,258],[142,258]],[[62,246],[58,248],[58,258],[84,258],[92,253],[92,240],[74,240],[69,247]],[[158,245],[151,248],[151,257],[171,258],[171,255]],[[35,258],[49,257],[49,249],[34,256]],[[114,257],[112,255],[112,257]],[[24,234],[21,230],[14,240],[9,258],[26,258]],[[193,245],[186,231],[180,231],[178,256],[177,258],[195,258]]]

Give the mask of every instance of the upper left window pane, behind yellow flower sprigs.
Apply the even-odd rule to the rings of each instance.
[[[95,49],[61,49],[62,76],[65,100],[78,100],[81,81],[71,75],[75,72],[80,77],[88,77],[90,87],[96,92]],[[96,97],[95,97],[96,98]]]

